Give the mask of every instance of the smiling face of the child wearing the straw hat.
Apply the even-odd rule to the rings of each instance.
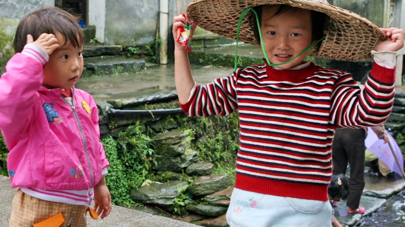
[[[286,62],[312,44],[311,11],[297,8],[269,19],[279,6],[263,6],[261,32],[267,57],[273,64]],[[289,69],[303,63],[308,51],[293,61],[278,65]]]

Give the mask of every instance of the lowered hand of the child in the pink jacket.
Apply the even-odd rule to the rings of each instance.
[[[105,179],[104,182],[100,180],[100,182],[96,186],[94,186],[93,210],[95,210],[98,215],[102,213],[101,219],[104,219],[110,214],[112,206],[113,205],[111,204],[110,191],[108,190],[107,185],[105,184]]]

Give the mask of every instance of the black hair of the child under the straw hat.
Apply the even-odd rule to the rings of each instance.
[[[296,10],[296,9],[297,9],[297,7],[281,4],[279,9],[277,10],[277,12],[275,12],[274,15],[271,16],[270,18],[276,17],[277,15],[280,15],[281,13],[285,13],[286,11]],[[259,24],[261,25],[263,5],[254,6],[253,10],[256,11],[257,16],[259,18]],[[248,18],[249,18],[249,25],[253,30],[254,37],[256,38],[257,44],[260,45],[260,35],[259,35],[258,25],[256,23],[256,16],[254,15],[254,13],[249,12]],[[325,21],[326,21],[326,14],[311,10],[312,42],[320,40],[324,36]],[[322,41],[318,42],[315,45],[316,50],[319,50],[321,44],[322,44]]]

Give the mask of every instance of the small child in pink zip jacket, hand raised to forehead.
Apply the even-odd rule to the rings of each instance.
[[[86,226],[93,199],[101,218],[111,211],[97,106],[74,87],[83,71],[77,19],[56,7],[23,18],[16,54],[0,77],[0,129],[11,187],[19,187],[10,226],[32,226],[60,212],[65,225]]]

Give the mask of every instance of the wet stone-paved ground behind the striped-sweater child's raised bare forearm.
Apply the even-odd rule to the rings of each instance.
[[[215,78],[232,74],[227,67],[193,66],[192,73],[198,84],[208,84]],[[76,88],[89,92],[98,105],[107,100],[129,101],[152,95],[177,93],[175,88],[174,65],[147,63],[142,72],[115,76],[84,77]]]

